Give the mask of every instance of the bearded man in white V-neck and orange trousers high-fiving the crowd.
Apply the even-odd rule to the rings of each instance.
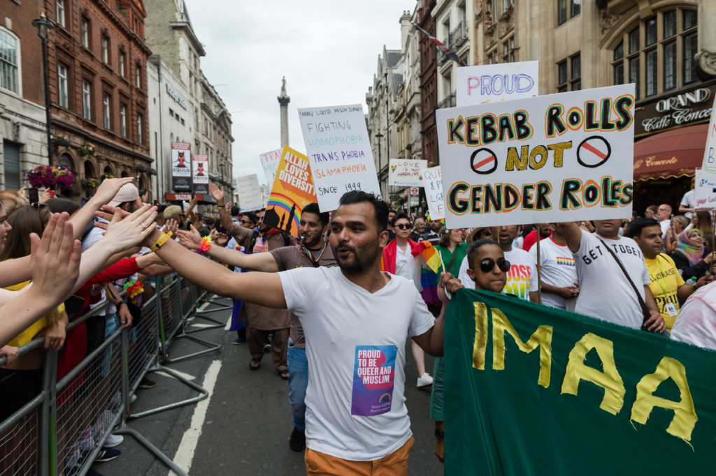
[[[387,244],[387,205],[348,192],[334,212],[329,243],[339,267],[279,273],[233,273],[165,239],[145,240],[203,289],[294,311],[304,327],[309,363],[306,471],[366,474],[380,467],[407,475],[413,439],[405,407],[405,339],[442,355],[443,314],[435,319],[412,282],[380,271]],[[442,288],[456,289],[450,274]]]

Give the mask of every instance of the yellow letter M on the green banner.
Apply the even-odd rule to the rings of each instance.
[[[505,369],[505,332],[515,339],[517,347],[526,353],[539,347],[539,377],[538,385],[549,387],[549,377],[552,371],[552,327],[540,326],[527,342],[517,334],[517,331],[500,309],[492,308],[493,314],[493,369]]]

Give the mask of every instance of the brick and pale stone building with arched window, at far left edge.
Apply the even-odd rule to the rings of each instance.
[[[4,2],[0,12],[0,189],[26,185],[23,172],[49,164],[37,28],[41,1]]]

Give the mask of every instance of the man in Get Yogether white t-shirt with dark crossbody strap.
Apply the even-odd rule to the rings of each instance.
[[[651,279],[644,255],[633,239],[619,237],[621,222],[621,219],[594,220],[594,234],[583,232],[575,222],[559,224],[574,254],[580,286],[574,311],[632,329],[640,329],[644,324],[651,332],[662,332],[666,324],[649,289]],[[606,247],[627,270],[636,291]],[[646,321],[637,291],[649,309]]]

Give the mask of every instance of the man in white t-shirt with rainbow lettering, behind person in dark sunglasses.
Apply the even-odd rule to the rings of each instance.
[[[530,254],[522,249],[513,246],[513,242],[520,227],[509,225],[506,227],[493,227],[492,238],[500,244],[505,259],[510,262],[510,270],[507,273],[505,294],[528,301],[537,302],[537,264]],[[463,258],[460,264],[458,279],[463,286],[475,289],[475,282],[468,276],[468,257]]]

